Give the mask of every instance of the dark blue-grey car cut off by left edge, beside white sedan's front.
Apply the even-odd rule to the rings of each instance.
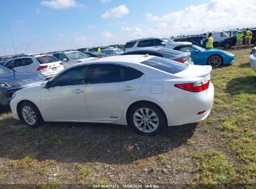
[[[14,92],[42,81],[43,76],[36,73],[17,73],[0,65],[0,109],[9,105]]]

